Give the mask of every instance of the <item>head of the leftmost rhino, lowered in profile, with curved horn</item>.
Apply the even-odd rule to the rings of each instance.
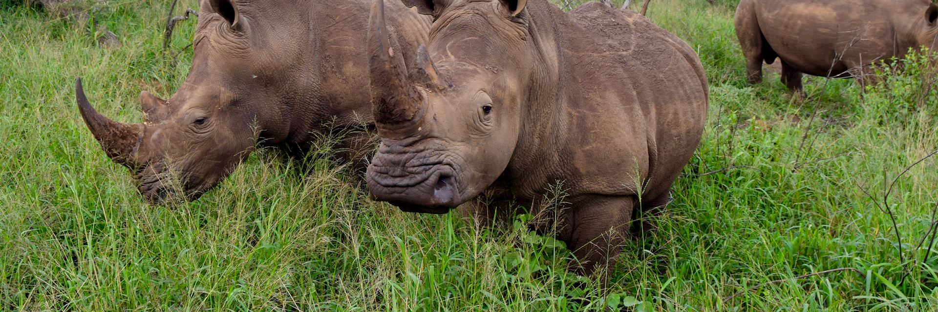
[[[277,60],[289,60],[283,53],[294,51],[276,43],[278,37],[268,35],[275,30],[261,19],[250,18],[259,14],[256,7],[203,0],[200,11],[189,75],[169,99],[141,93],[144,123],[122,124],[98,113],[81,80],[76,83],[85,124],[106,154],[130,169],[151,203],[198,199],[250,154],[257,129],[283,131],[276,126],[282,124],[277,95],[287,77],[272,73],[282,73]],[[281,49],[263,49],[270,46]]]

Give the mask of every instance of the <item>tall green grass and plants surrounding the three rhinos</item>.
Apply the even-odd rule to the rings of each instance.
[[[139,122],[141,90],[168,97],[184,79],[194,21],[162,52],[169,1],[98,1],[89,21],[0,2],[0,309],[936,310],[938,159],[900,176],[938,148],[930,56],[885,67],[866,93],[809,78],[809,99],[794,100],[778,74],[745,82],[733,4],[715,2],[649,8],[701,53],[709,126],[608,296],[595,276],[567,273],[569,252],[529,233],[527,215],[477,230],[457,214],[404,214],[322,157],[299,166],[262,150],[200,201],[147,205],[83,126],[73,82]],[[99,45],[98,26],[121,46]],[[723,300],[838,268],[856,271]]]

